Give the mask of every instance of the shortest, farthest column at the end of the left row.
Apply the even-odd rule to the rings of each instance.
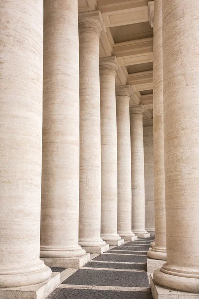
[[[143,105],[130,107],[132,231],[138,237],[149,237],[145,230]]]

